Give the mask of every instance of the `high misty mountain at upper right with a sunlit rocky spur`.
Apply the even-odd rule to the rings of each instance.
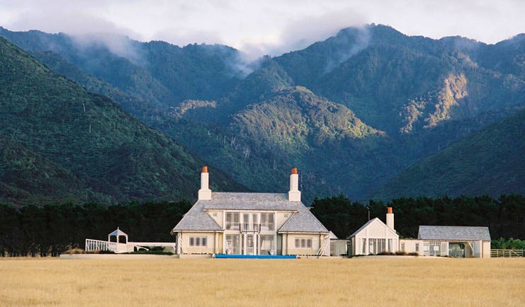
[[[512,47],[505,49],[507,45]],[[373,127],[397,134],[524,105],[523,67],[509,69],[512,65],[495,61],[500,51],[516,66],[524,66],[524,40],[498,45],[462,37],[431,40],[366,25],[346,28],[275,60],[296,85],[346,105]]]

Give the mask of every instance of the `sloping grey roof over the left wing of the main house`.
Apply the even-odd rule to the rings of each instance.
[[[184,214],[179,224],[177,224],[171,233],[174,231],[221,231],[219,224],[206,213],[204,205],[208,200],[198,200],[191,209]]]

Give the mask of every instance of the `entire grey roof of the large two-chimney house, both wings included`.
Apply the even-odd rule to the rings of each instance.
[[[292,216],[279,232],[322,232],[327,228],[310,213],[302,202],[288,201],[285,193],[212,192],[211,200],[198,200],[171,232],[221,231],[222,228],[204,210],[275,210],[292,211]]]

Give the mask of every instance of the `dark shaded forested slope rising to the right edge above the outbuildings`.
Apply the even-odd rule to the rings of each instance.
[[[375,197],[525,193],[525,110],[412,164]]]

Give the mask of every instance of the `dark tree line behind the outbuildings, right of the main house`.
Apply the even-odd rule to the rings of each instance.
[[[338,238],[347,238],[368,219],[385,222],[393,207],[395,230],[417,238],[421,225],[487,226],[491,238],[525,238],[525,199],[521,195],[460,197],[401,197],[390,202],[351,202],[344,195],[314,199],[311,212]]]

